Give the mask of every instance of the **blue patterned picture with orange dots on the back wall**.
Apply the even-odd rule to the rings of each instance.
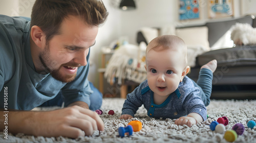
[[[200,17],[198,0],[180,0],[179,19],[197,19]]]

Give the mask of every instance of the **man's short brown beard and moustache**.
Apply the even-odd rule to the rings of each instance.
[[[46,42],[46,47],[45,47],[44,51],[39,54],[39,59],[40,59],[41,64],[45,67],[46,72],[50,73],[54,79],[56,79],[60,82],[63,82],[63,83],[72,82],[75,79],[76,74],[63,76],[59,73],[59,70],[61,67],[63,67],[63,66],[79,67],[79,66],[81,66],[78,63],[65,63],[65,64],[61,64],[58,69],[53,69],[53,67],[57,63],[55,61],[51,61],[51,59],[50,59],[50,49],[49,49],[48,42]],[[66,68],[66,67],[64,67],[64,68]]]

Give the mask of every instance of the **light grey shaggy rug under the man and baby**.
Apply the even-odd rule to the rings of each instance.
[[[92,136],[78,137],[76,139],[66,137],[42,137],[29,136],[24,134],[8,135],[4,139],[3,132],[0,134],[0,142],[227,142],[224,133],[211,131],[209,125],[212,121],[217,121],[219,117],[226,116],[229,124],[226,130],[230,130],[236,123],[245,126],[243,135],[239,135],[234,142],[256,142],[256,127],[250,129],[247,122],[256,121],[256,100],[235,101],[235,100],[212,100],[207,106],[208,119],[203,123],[188,126],[177,126],[175,120],[157,120],[150,118],[146,110],[140,107],[135,118],[132,120],[119,120],[124,99],[105,98],[102,103],[102,118],[104,132],[95,131]],[[37,108],[37,110],[52,110],[55,108]],[[114,110],[114,115],[109,115],[108,111]],[[138,120],[142,123],[139,132],[133,132],[131,136],[121,138],[118,133],[119,127],[125,127],[129,122]]]

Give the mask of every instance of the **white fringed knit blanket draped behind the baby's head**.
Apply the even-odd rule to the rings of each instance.
[[[133,44],[125,44],[115,50],[106,66],[104,77],[109,83],[122,84],[122,79],[141,83],[146,79],[145,49]]]

